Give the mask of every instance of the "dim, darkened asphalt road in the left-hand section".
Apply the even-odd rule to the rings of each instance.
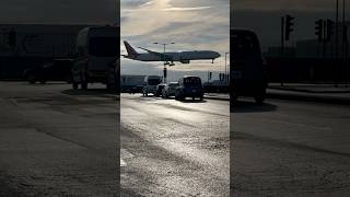
[[[119,196],[115,96],[0,82],[0,196]]]

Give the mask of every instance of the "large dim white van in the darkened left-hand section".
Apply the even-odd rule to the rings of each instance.
[[[108,72],[120,55],[119,26],[93,26],[79,32],[72,67],[72,88],[89,83],[108,83]],[[117,69],[118,70],[118,69]]]

